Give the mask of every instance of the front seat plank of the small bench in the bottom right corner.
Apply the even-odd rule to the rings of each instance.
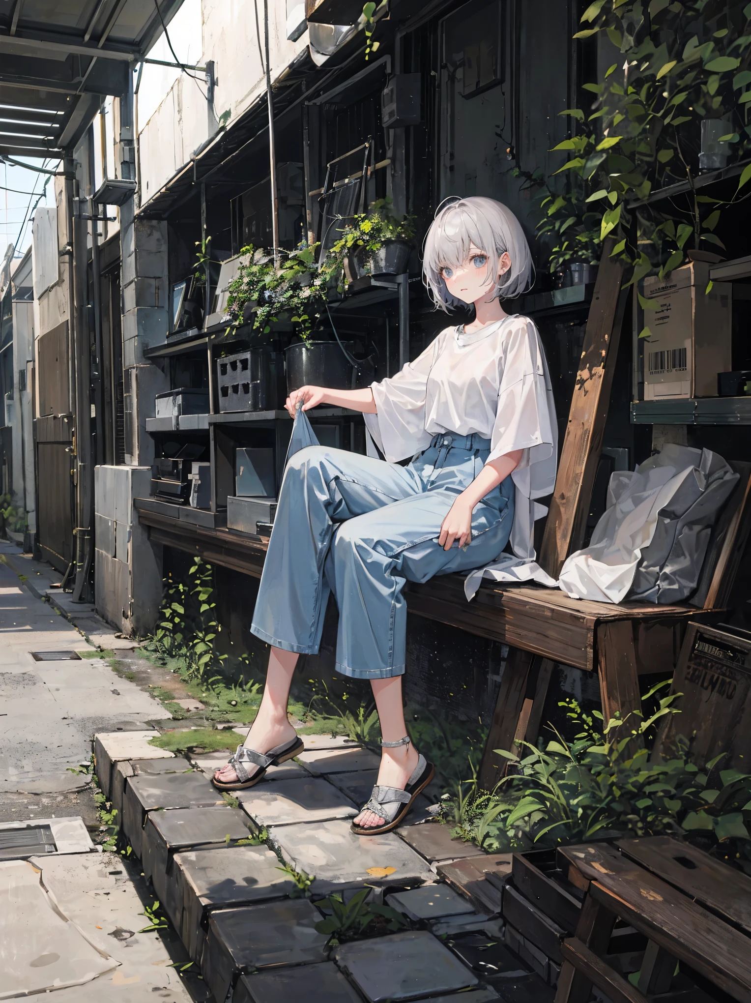
[[[590,896],[740,1003],[751,1003],[749,939],[648,871],[604,874]]]

